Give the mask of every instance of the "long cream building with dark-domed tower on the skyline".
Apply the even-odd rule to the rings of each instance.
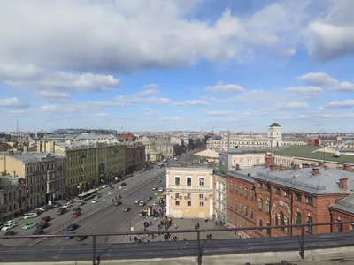
[[[226,150],[228,148],[242,148],[242,147],[281,147],[282,141],[282,127],[278,123],[273,123],[268,127],[267,136],[247,135],[237,137],[226,137],[220,140],[207,140],[206,147],[209,149]]]

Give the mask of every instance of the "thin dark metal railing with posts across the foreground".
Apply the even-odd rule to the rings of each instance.
[[[92,264],[96,265],[96,261],[100,260],[100,256],[96,256],[96,238],[97,237],[112,237],[112,236],[136,236],[136,235],[163,235],[165,233],[170,233],[170,234],[182,234],[182,233],[195,233],[196,234],[196,250],[197,250],[197,258],[198,258],[198,264],[202,263],[202,254],[203,254],[203,249],[202,249],[202,239],[201,239],[201,233],[211,233],[211,232],[222,232],[222,231],[270,231],[270,234],[268,235],[269,237],[272,236],[272,231],[281,229],[282,232],[284,231],[291,231],[293,228],[301,230],[301,234],[296,235],[299,243],[299,254],[302,259],[304,259],[304,252],[305,252],[305,234],[311,235],[311,232],[308,231],[313,231],[313,227],[319,227],[319,226],[330,226],[330,231],[333,231],[333,227],[341,227],[343,224],[346,223],[353,223],[353,221],[347,221],[347,222],[333,222],[333,223],[304,223],[304,224],[291,224],[291,225],[277,225],[277,226],[253,226],[253,227],[237,227],[237,228],[216,228],[216,229],[204,229],[204,230],[174,230],[174,231],[132,231],[132,232],[114,232],[114,233],[95,233],[95,234],[84,234],[84,233],[78,233],[75,234],[75,237],[80,237],[80,236],[88,236],[92,237]],[[285,233],[285,232],[284,232]],[[28,235],[28,236],[11,236],[12,239],[35,239],[35,240],[40,240],[40,239],[48,239],[48,238],[62,238],[65,236],[70,236],[70,234],[45,234],[45,235]],[[284,234],[284,237],[290,237],[290,235]],[[294,236],[293,236],[294,237]],[[9,236],[4,236],[1,235],[0,239],[8,239],[10,238]],[[353,244],[354,245],[354,244]],[[337,244],[336,247],[341,246],[341,244]],[[351,246],[351,245],[350,245]],[[319,246],[321,247],[321,246]],[[334,246],[332,246],[334,247]],[[272,249],[269,249],[269,251],[272,251]]]

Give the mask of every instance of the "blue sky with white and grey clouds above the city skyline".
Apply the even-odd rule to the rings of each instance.
[[[11,0],[0,131],[354,131],[352,0]]]

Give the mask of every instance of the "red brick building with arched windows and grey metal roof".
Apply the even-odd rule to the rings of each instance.
[[[267,164],[268,162],[270,161],[266,161]],[[252,177],[236,171],[227,176],[227,225],[271,226],[325,223],[338,217],[348,219],[348,214],[344,217],[341,213],[340,216],[339,209],[331,208],[331,205],[348,197],[351,182],[354,184],[354,174],[348,167],[343,170],[327,167],[301,169],[300,166],[295,166],[294,169],[286,170],[272,164],[266,173],[258,172]],[[350,218],[352,216],[353,213]],[[329,226],[305,228],[306,233],[330,231]],[[280,237],[298,235],[301,230],[285,228],[240,231],[238,236],[269,236],[270,232],[273,237]]]

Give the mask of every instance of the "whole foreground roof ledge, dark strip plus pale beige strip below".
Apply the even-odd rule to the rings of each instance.
[[[353,245],[354,239],[352,232],[305,236],[305,254],[308,261],[319,261],[321,257],[328,253],[333,254],[330,257],[334,259],[334,261],[336,261],[336,258],[348,260],[349,255],[353,256],[354,247],[349,247]],[[93,257],[92,247],[92,240],[73,246],[19,246],[16,249],[0,247],[0,262],[26,261],[28,264],[31,262],[46,261],[54,264],[58,261],[90,261]],[[198,244],[196,241],[182,240],[136,244],[97,244],[95,256],[99,256],[103,264],[104,261],[119,260],[126,260],[124,264],[128,264],[127,260],[136,259],[142,259],[146,262],[149,259],[171,259],[177,257],[196,258],[198,254],[197,247]],[[350,249],[351,252],[347,253],[346,251],[341,251],[341,249],[345,247],[347,248],[346,251]],[[335,248],[336,252],[334,253],[330,248]],[[299,240],[296,236],[251,239],[202,239],[200,249],[205,259],[203,264],[245,264],[247,261],[250,262],[250,264],[252,264],[252,262],[254,262],[254,264],[265,264],[267,258],[281,262],[280,256],[282,256],[282,260],[286,261],[289,261],[289,259],[294,261],[295,258],[296,261],[302,261],[298,256]],[[318,249],[321,251],[317,251]],[[313,252],[313,250],[316,251]],[[283,256],[281,254],[282,252],[289,252],[289,254],[288,256]],[[339,253],[341,253],[341,255],[335,255]],[[235,260],[235,257],[232,260],[228,258],[229,255],[235,254],[239,254],[238,260]],[[212,256],[214,256],[213,262]],[[210,257],[209,262],[206,257]],[[257,257],[257,259],[255,257]],[[274,258],[276,259],[274,260]],[[184,264],[185,263],[187,262],[184,262]],[[117,264],[117,262],[111,264]]]

